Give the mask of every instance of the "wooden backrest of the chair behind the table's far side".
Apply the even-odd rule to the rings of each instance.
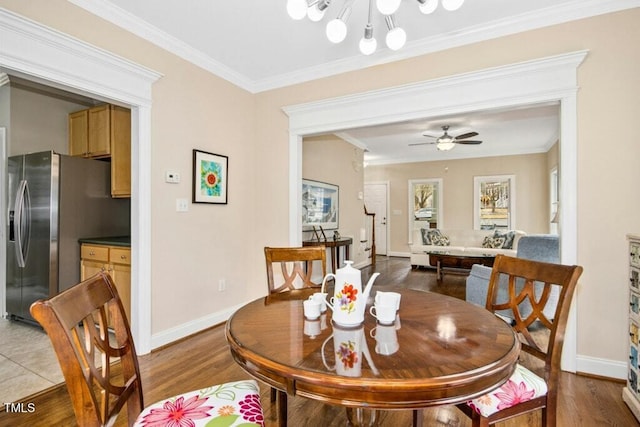
[[[269,293],[322,286],[327,274],[327,251],[324,246],[264,248]],[[314,262],[320,263],[322,277],[314,279]],[[274,267],[275,266],[275,267]]]

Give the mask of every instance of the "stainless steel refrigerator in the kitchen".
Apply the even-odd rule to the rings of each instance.
[[[51,151],[8,162],[6,306],[33,321],[31,304],[80,280],[86,237],[130,232],[130,202],[112,199],[110,164]]]

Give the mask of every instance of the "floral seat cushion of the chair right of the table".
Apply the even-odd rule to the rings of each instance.
[[[547,383],[524,366],[518,364],[511,378],[500,388],[470,400],[467,405],[482,416],[488,417],[498,411],[545,394],[547,394]]]

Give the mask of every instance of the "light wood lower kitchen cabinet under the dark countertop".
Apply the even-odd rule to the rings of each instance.
[[[122,246],[82,244],[80,248],[80,279],[85,280],[100,271],[109,273],[122,305],[131,320],[131,249]]]

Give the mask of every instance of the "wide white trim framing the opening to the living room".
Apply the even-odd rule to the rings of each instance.
[[[302,137],[363,126],[560,102],[560,252],[577,263],[577,70],[588,51],[284,107],[289,116],[289,241],[300,244]],[[463,98],[450,96],[464,93]],[[574,302],[577,302],[574,300]],[[563,369],[576,371],[576,304],[569,314]]]

